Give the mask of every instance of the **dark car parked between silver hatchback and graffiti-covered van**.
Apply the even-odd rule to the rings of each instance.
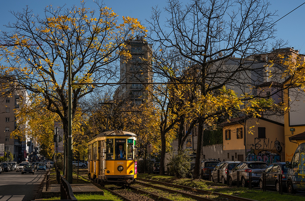
[[[265,170],[266,187],[275,188],[279,192],[280,183],[278,175],[282,174],[282,187],[285,189],[287,181],[287,171],[288,168],[286,168],[286,163],[284,162],[270,164]],[[263,175],[260,176],[259,186],[260,189],[263,189]]]

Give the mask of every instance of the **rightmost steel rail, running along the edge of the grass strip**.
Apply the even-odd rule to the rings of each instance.
[[[242,197],[232,196],[232,195],[228,195],[228,194],[224,194],[224,193],[218,193],[218,192],[213,192],[213,191],[206,191],[206,190],[202,190],[202,189],[195,189],[195,188],[188,187],[188,186],[182,186],[182,185],[177,185],[177,184],[170,184],[170,183],[166,183],[166,182],[159,182],[159,181],[154,181],[154,180],[149,180],[149,179],[137,178],[137,180],[142,180],[142,181],[147,181],[147,182],[155,182],[155,183],[159,183],[159,184],[163,184],[163,185],[184,188],[184,189],[188,189],[188,190],[192,190],[192,191],[196,191],[196,192],[202,192],[202,193],[210,194],[210,195],[224,196],[226,198],[235,199],[235,200],[238,200],[238,201],[257,201],[257,200],[254,200],[254,199],[242,198]]]

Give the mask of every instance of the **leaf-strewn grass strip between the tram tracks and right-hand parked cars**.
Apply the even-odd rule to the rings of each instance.
[[[259,189],[249,190],[248,188],[237,188],[236,186],[228,186],[221,183],[210,182],[202,179],[188,179],[188,178],[175,178],[167,175],[151,175],[151,174],[138,174],[138,178],[152,179],[160,182],[167,182],[177,185],[189,186],[192,188],[203,189],[207,191],[219,192],[228,195],[234,195],[243,198],[249,198],[259,201],[303,201],[305,196],[291,195],[278,192],[263,192]]]

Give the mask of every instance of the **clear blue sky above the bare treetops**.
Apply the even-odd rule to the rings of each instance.
[[[103,1],[106,6],[111,7],[114,12],[121,16],[130,16],[138,18],[145,25],[145,19],[149,19],[151,16],[152,7],[158,5],[162,9],[166,5],[165,0],[105,0]],[[184,1],[187,2],[187,1]],[[272,4],[269,8],[270,11],[278,10],[278,17],[274,17],[274,21],[285,16],[287,13],[297,8],[299,5],[303,4],[305,0],[270,0]],[[66,4],[67,6],[80,5],[79,0],[13,0],[13,1],[1,1],[0,6],[0,30],[5,30],[4,24],[8,22],[14,22],[15,19],[9,11],[22,11],[26,5],[36,14],[43,15],[43,9],[47,5],[62,6]],[[92,0],[86,1],[86,7],[94,6]],[[305,54],[305,40],[304,40],[304,11],[305,4],[300,8],[296,9],[288,16],[277,22],[277,33],[278,39],[283,39],[288,41],[288,46],[294,47],[294,49],[300,50],[301,54]]]

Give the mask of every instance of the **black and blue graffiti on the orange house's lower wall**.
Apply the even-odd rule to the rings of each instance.
[[[254,144],[247,152],[248,161],[263,161],[267,164],[281,162],[282,146],[284,143],[280,143],[275,140],[274,143],[269,138],[255,138]]]

